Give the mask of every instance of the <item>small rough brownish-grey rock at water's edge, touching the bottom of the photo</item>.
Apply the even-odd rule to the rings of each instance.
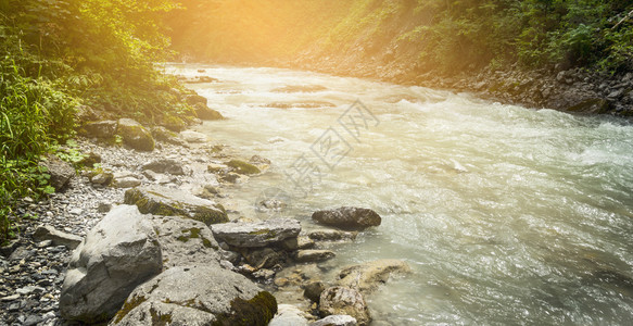
[[[371,322],[367,303],[358,291],[346,287],[327,288],[319,300],[321,315],[350,315],[356,318],[358,325]]]

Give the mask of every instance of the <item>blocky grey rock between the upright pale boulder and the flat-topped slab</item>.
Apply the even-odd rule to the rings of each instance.
[[[151,216],[163,253],[163,269],[178,265],[219,262],[219,246],[208,227],[179,216]]]

